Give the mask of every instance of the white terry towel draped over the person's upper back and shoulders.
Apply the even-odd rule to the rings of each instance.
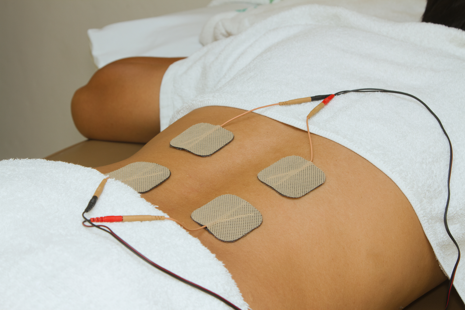
[[[291,7],[256,20],[168,68],[161,121],[173,122],[202,106],[251,110],[365,87],[411,93],[438,115],[452,140],[448,223],[465,249],[465,32],[321,5]],[[306,130],[306,115],[318,103],[255,112]],[[443,223],[449,145],[433,116],[403,95],[349,93],[313,116],[310,131],[358,153],[399,186],[450,276],[457,250]],[[464,298],[463,262],[454,284]]]

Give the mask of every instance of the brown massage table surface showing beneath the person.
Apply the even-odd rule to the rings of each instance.
[[[45,157],[47,160],[63,161],[86,167],[110,165],[131,157],[144,144],[100,140],[86,140],[71,145],[61,151]],[[405,307],[407,310],[444,310],[449,281],[445,281],[434,289],[419,297]],[[448,310],[465,310],[462,299],[455,289],[452,289]]]

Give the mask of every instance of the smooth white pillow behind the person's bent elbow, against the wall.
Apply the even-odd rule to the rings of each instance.
[[[95,65],[101,68],[135,56],[187,57],[202,47],[199,34],[212,16],[252,6],[248,2],[226,3],[89,29]]]

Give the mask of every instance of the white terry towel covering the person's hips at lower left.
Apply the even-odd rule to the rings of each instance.
[[[99,171],[45,159],[0,161],[2,309],[224,309],[147,264],[109,234],[83,227]],[[166,215],[109,179],[87,218]],[[162,267],[247,309],[223,264],[173,221],[104,223]]]

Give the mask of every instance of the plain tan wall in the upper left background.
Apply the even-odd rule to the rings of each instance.
[[[43,158],[85,138],[74,91],[95,72],[87,29],[210,0],[0,0],[0,160]]]

